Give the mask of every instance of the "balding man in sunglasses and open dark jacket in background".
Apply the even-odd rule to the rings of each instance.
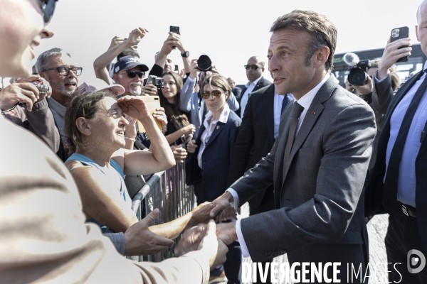
[[[236,114],[243,119],[243,114],[245,113],[246,104],[248,104],[248,97],[251,92],[255,92],[258,89],[272,84],[270,81],[265,80],[263,77],[263,72],[265,67],[265,62],[260,60],[258,56],[252,56],[248,60],[248,64],[245,65],[246,77],[248,77],[249,82],[246,83],[246,86],[242,89],[242,96],[238,98],[238,103],[240,104],[240,109],[238,109]]]

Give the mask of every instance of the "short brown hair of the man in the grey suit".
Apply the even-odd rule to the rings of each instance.
[[[327,46],[330,49],[330,55],[325,66],[327,71],[332,70],[335,48],[337,47],[337,28],[326,16],[313,11],[294,10],[280,16],[271,26],[270,32],[274,33],[286,28],[310,33],[311,40],[307,44],[305,56],[306,65],[310,65],[310,60],[316,50]]]

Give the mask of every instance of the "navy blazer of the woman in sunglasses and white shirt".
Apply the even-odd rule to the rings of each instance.
[[[230,111],[226,124],[218,121],[202,154],[203,175],[201,173],[202,169],[197,163],[197,155],[199,155],[201,146],[201,133],[203,133],[206,128],[204,125],[200,128],[199,135],[196,139],[196,144],[199,147],[197,147],[196,152],[192,153],[189,157],[189,162],[186,167],[186,182],[189,185],[193,185],[195,181],[203,178],[209,197],[209,200],[206,201],[215,200],[216,197],[222,195],[228,188],[228,168],[241,122],[240,117],[233,111]]]

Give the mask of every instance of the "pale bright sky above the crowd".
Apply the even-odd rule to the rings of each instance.
[[[298,0],[298,1],[141,1],[59,0],[48,29],[53,38],[42,40],[36,56],[50,48],[68,51],[83,67],[79,84],[95,77],[93,61],[118,35],[127,38],[132,29],[147,28],[139,43],[141,62],[150,68],[154,54],[162,48],[169,26],[179,26],[181,42],[190,58],[209,55],[221,75],[246,84],[248,58],[265,58],[270,27],[279,16],[292,10],[322,13],[338,31],[336,53],[384,48],[393,28],[409,27],[416,40],[416,9],[421,0]],[[179,50],[173,50],[174,64],[183,68]],[[34,60],[35,62],[35,60]],[[271,80],[268,69],[264,77]]]

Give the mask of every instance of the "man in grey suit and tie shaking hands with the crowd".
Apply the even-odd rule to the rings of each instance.
[[[220,224],[220,238],[238,239],[253,261],[288,253],[305,278],[323,282],[335,274],[347,283],[352,266],[366,271],[362,188],[376,133],[374,112],[330,75],[337,31],[325,16],[295,10],[270,31],[275,92],[292,93],[295,101],[283,112],[271,152],[214,201],[211,217],[273,184],[276,209]],[[326,272],[319,278],[302,263]],[[340,263],[339,272],[327,263]],[[357,282],[363,280],[359,274]]]

